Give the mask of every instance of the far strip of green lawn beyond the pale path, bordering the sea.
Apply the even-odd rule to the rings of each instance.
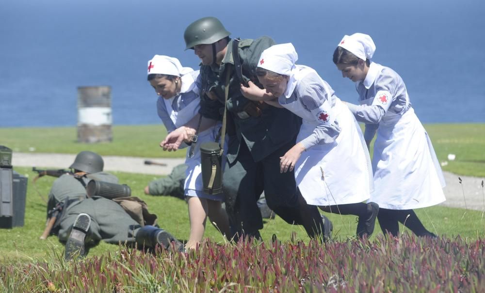
[[[456,159],[443,170],[460,175],[485,177],[485,124],[426,124],[440,162],[448,154]],[[184,157],[185,151],[163,152],[160,141],[166,136],[162,125],[113,126],[113,142],[78,143],[76,127],[1,128],[0,144],[16,152],[77,154],[89,149],[101,155],[140,157]]]

